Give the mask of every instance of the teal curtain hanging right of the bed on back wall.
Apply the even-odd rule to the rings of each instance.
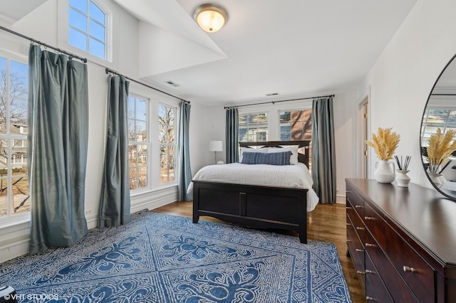
[[[333,97],[312,104],[312,179],[320,203],[336,203]]]

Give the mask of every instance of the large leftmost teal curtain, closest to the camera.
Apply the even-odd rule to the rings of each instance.
[[[87,233],[87,66],[31,45],[28,53],[30,254]]]

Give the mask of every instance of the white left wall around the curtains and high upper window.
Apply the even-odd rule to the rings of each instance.
[[[88,57],[88,95],[89,95],[89,121],[88,121],[88,163],[86,174],[86,196],[85,209],[88,227],[96,226],[96,217],[100,204],[101,182],[103,174],[103,161],[105,149],[105,119],[106,119],[106,97],[107,97],[107,75],[105,66],[100,65],[100,60],[90,60],[81,50],[65,46],[65,41],[61,41],[58,33],[59,22],[58,11],[62,9],[64,1],[48,0],[45,4],[38,7],[31,14],[28,14],[20,21],[14,23],[10,28],[13,31],[30,36],[38,41],[47,43],[68,50],[81,57]],[[138,20],[111,3],[111,9],[115,14],[115,26],[113,63],[108,63],[110,68],[118,70],[123,75],[138,79]],[[45,17],[43,17],[45,16]],[[5,25],[6,26],[6,25]],[[6,26],[8,27],[8,26]],[[66,27],[65,27],[66,28]],[[29,41],[18,38],[9,33],[0,32],[0,50],[19,53],[27,58]],[[25,59],[27,62],[27,59]],[[161,88],[161,87],[160,87]],[[154,90],[145,89],[141,85],[130,84],[130,91],[134,89],[142,93],[145,97],[159,98],[166,102],[175,102]],[[204,107],[195,106],[192,114],[198,121],[204,120]],[[195,119],[192,117],[192,119]],[[204,129],[201,123],[193,123],[194,133],[198,134],[198,129]],[[198,154],[197,152],[195,154]],[[199,161],[202,163],[204,161]],[[199,164],[202,165],[202,164]],[[135,195],[131,201],[131,211],[140,211],[144,208],[155,208],[166,203],[177,200],[177,186],[156,188],[155,191]],[[12,257],[23,255],[28,252],[28,238],[30,235],[30,223],[24,221],[9,226],[0,227],[0,262],[9,260]]]

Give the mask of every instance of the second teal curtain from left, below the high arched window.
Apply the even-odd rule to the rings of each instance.
[[[108,125],[98,228],[130,222],[128,87],[124,76],[108,76]]]

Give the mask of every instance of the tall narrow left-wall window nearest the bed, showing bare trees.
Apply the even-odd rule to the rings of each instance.
[[[176,107],[158,106],[160,184],[175,181],[175,111]]]

